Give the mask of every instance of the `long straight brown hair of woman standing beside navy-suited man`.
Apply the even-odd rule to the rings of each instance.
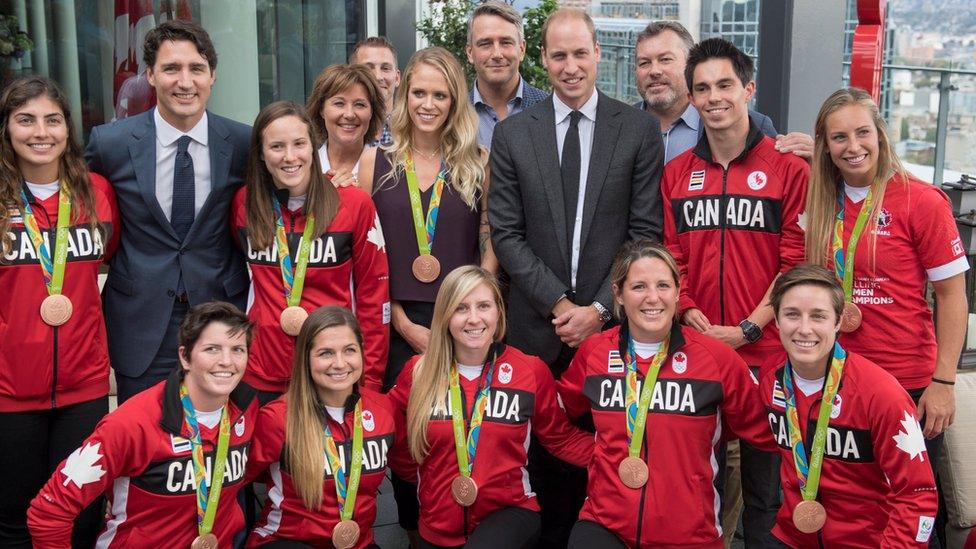
[[[319,141],[315,136],[315,128],[305,112],[305,107],[292,101],[275,101],[261,109],[254,119],[254,129],[251,130],[251,147],[247,155],[247,234],[251,244],[257,250],[264,250],[274,241],[275,215],[272,200],[275,185],[271,172],[261,158],[264,130],[272,122],[286,116],[294,116],[308,128],[308,137],[312,143],[311,169],[308,184],[308,197],[305,199],[305,215],[315,216],[315,231],[312,238],[325,234],[325,230],[332,223],[336,212],[339,211],[339,192],[322,175],[322,165],[319,163]]]

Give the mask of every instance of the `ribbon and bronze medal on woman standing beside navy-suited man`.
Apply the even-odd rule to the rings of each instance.
[[[305,287],[305,270],[308,268],[308,254],[312,248],[312,233],[315,232],[315,218],[308,216],[305,220],[305,230],[302,239],[298,241],[298,253],[295,261],[297,265],[292,269],[291,254],[288,249],[288,235],[285,233],[285,220],[281,214],[281,204],[272,195],[271,204],[275,212],[275,243],[278,248],[278,265],[281,266],[281,282],[285,288],[285,310],[281,311],[278,321],[281,330],[296,337],[302,330],[308,311],[299,303],[302,301],[302,289]]]

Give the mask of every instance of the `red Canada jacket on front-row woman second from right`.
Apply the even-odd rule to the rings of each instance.
[[[593,413],[596,448],[580,519],[595,522],[628,547],[722,547],[716,445],[728,426],[772,451],[757,386],[731,347],[688,327],[672,327],[668,358],[647,414],[641,458],[647,484],[624,486],[627,457],[626,368],[620,327],[587,338],[557,383],[570,417]],[[638,359],[638,391],[652,357]],[[639,394],[639,393],[638,393]]]

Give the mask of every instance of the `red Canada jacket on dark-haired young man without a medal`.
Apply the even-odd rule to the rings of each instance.
[[[777,274],[803,261],[798,219],[810,168],[775,143],[750,122],[746,149],[726,170],[712,161],[702,132],[695,148],[664,167],[664,243],[681,270],[681,314],[697,307],[712,324],[735,326]],[[759,341],[738,353],[758,366],[780,348],[769,323]]]

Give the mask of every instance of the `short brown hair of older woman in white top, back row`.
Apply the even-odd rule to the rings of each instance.
[[[363,145],[373,141],[383,120],[386,117],[386,103],[383,94],[380,92],[380,85],[376,81],[373,73],[366,68],[366,65],[329,65],[322,69],[319,77],[315,79],[315,87],[312,88],[312,95],[309,96],[305,104],[308,117],[312,119],[312,127],[315,128],[320,142],[329,138],[329,132],[325,129],[325,120],[322,118],[322,106],[333,95],[348,90],[355,84],[360,84],[366,90],[366,99],[372,110],[369,119],[369,127],[363,134]]]

